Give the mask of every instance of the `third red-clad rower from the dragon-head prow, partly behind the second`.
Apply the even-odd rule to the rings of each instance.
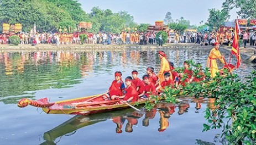
[[[144,82],[138,78],[137,70],[132,71],[132,76],[133,76],[133,84],[136,87],[139,98],[143,97],[145,94]]]

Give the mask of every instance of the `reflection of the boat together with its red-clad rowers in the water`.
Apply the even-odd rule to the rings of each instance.
[[[76,115],[73,118],[67,120],[61,125],[55,127],[54,129],[47,131],[44,133],[43,138],[44,141],[41,144],[55,144],[61,142],[61,137],[68,137],[77,133],[76,131],[81,129],[82,127],[95,125],[102,121],[109,121],[109,124],[115,124],[112,127],[108,127],[108,129],[112,130],[111,132],[116,133],[132,133],[135,129],[140,130],[141,127],[150,126],[151,129],[156,129],[158,132],[164,132],[170,126],[170,121],[172,119],[172,115],[175,113],[182,115],[187,113],[187,109],[190,107],[189,102],[194,102],[195,99],[187,99],[182,98],[183,102],[179,104],[172,103],[164,103],[160,102],[156,105],[156,107],[150,111],[134,111],[133,109],[124,109],[119,111],[111,111],[102,114],[93,114],[93,115]],[[201,103],[209,103],[208,99],[200,99]],[[178,111],[175,111],[178,110]],[[156,116],[160,116],[156,117]],[[140,119],[143,118],[143,119]],[[155,118],[159,118],[159,127],[157,124],[150,125],[150,120],[155,120]],[[141,121],[141,122],[140,122]],[[111,126],[111,125],[110,125]],[[134,128],[134,126],[137,126]],[[216,138],[215,138],[216,139]],[[201,140],[196,140],[196,144],[206,143]],[[211,144],[211,143],[210,143]]]

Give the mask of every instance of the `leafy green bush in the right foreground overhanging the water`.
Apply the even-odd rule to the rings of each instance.
[[[192,60],[187,62],[193,70],[193,76],[199,78],[197,74],[201,65]],[[174,71],[182,72],[182,68],[177,67]],[[224,70],[224,76],[218,73],[211,79],[208,68],[204,71],[205,81],[189,83],[185,87],[179,86],[180,89],[165,88],[162,97],[165,97],[166,102],[172,103],[175,103],[175,98],[180,95],[213,98],[213,108],[207,108],[205,111],[207,123],[203,124],[203,131],[222,128],[222,136],[226,136],[231,144],[255,144],[256,71],[244,79],[229,73],[228,70]],[[150,108],[154,104],[148,106]]]

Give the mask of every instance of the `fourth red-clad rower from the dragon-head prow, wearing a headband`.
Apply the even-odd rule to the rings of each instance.
[[[150,76],[144,75],[142,78],[145,83],[145,97],[149,98],[150,95],[156,95],[155,85],[150,81]]]

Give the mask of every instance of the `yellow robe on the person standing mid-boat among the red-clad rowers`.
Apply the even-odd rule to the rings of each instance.
[[[164,81],[165,72],[170,72],[171,74],[169,62],[165,57],[163,57],[161,59],[161,68],[160,71],[158,72],[159,85],[161,85],[161,82]],[[173,80],[173,75],[170,76],[170,79]]]

